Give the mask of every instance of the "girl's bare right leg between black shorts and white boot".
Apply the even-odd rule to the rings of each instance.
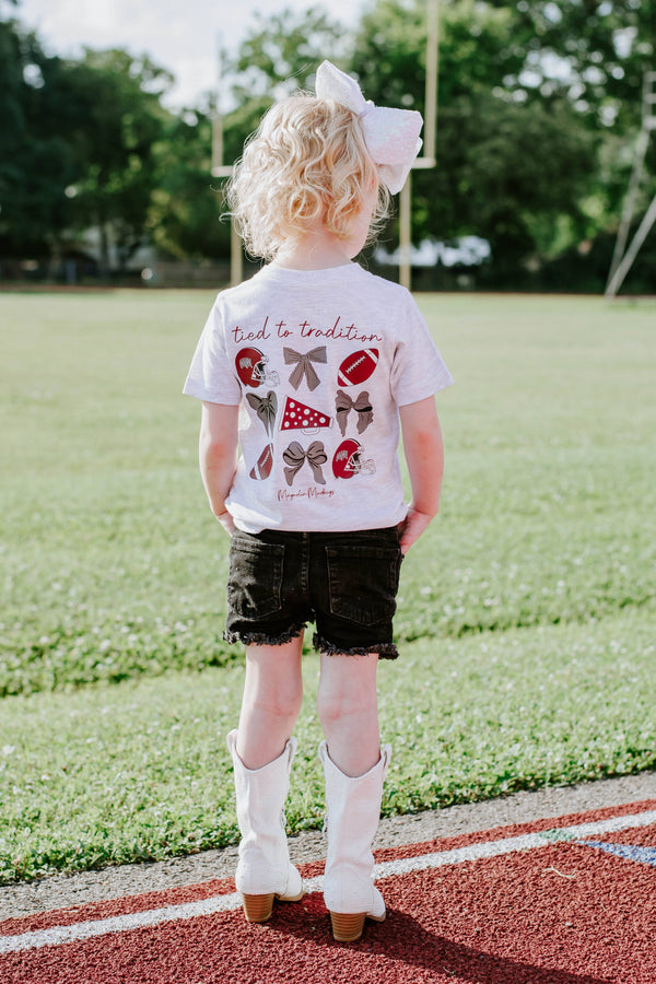
[[[330,759],[348,776],[364,775],[380,758],[377,666],[377,653],[321,654],[319,721]]]

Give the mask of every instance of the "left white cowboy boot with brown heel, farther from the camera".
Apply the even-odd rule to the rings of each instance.
[[[246,769],[237,754],[237,733],[227,736],[234,763],[237,823],[242,841],[235,875],[249,923],[263,923],[271,915],[273,899],[297,902],[303,898],[301,875],[290,862],[284,829],[284,801],[296,739],[261,769]]]

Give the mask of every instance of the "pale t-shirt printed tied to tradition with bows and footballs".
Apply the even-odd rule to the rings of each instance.
[[[452,383],[405,288],[271,263],[218,296],[184,391],[241,405],[239,529],[348,531],[405,518],[399,407]]]

